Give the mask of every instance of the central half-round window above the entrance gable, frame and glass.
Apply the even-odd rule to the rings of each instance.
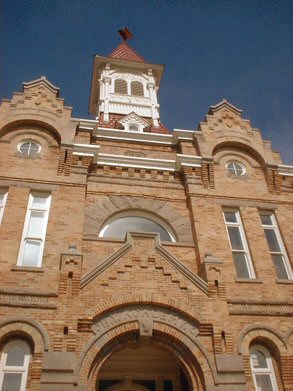
[[[105,222],[99,236],[124,239],[127,232],[159,233],[161,240],[176,241],[171,227],[157,216],[143,211],[125,211],[115,214]]]

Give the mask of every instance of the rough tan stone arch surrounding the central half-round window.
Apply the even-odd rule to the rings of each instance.
[[[176,233],[178,241],[192,242],[189,216],[175,210],[171,202],[145,197],[109,195],[89,206],[85,213],[84,234],[98,238],[99,232],[112,215],[127,210],[141,210],[159,216]]]

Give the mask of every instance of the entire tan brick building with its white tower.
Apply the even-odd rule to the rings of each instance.
[[[226,100],[160,119],[163,66],[95,56],[0,107],[3,391],[293,390],[293,167]]]

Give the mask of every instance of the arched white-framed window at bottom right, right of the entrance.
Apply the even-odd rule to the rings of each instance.
[[[250,365],[256,391],[278,391],[272,357],[266,348],[250,348]]]

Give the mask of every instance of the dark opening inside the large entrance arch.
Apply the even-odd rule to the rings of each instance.
[[[179,360],[151,345],[136,345],[111,355],[99,371],[97,391],[188,391]]]

